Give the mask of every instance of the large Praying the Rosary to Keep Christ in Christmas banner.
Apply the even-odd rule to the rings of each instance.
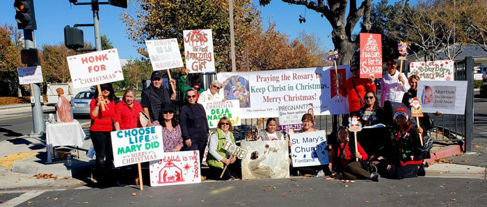
[[[349,65],[339,65],[342,83]],[[333,88],[335,67],[218,73],[227,100],[239,100],[241,118],[278,117],[278,106],[312,104],[314,115],[349,113],[348,101]],[[333,79],[332,79],[333,78]]]

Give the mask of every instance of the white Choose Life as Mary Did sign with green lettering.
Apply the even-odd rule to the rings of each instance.
[[[111,132],[115,167],[159,160],[163,156],[162,126]]]

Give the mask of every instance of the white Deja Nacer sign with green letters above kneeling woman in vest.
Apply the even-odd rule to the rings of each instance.
[[[238,100],[207,102],[202,104],[207,113],[209,128],[216,128],[221,117],[227,117],[232,126],[240,126],[240,106]]]

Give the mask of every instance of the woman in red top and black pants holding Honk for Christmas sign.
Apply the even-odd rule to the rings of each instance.
[[[111,152],[111,136],[113,131],[112,116],[115,111],[115,92],[111,83],[100,85],[102,93],[95,90],[95,99],[90,102],[90,137],[95,148],[97,171],[102,183],[106,184],[106,175],[110,174],[113,154]],[[102,110],[102,105],[104,110]]]

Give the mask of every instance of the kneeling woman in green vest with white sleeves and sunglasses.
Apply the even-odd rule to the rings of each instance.
[[[235,138],[233,137],[232,122],[227,117],[221,117],[216,126],[216,130],[209,136],[209,149],[207,163],[209,166],[209,177],[214,180],[226,181],[232,176],[235,179],[241,178],[241,162],[237,159],[237,156],[228,154],[223,149],[225,142],[231,142],[235,144]],[[228,165],[225,172],[223,168]],[[221,173],[223,172],[223,176]],[[220,178],[221,176],[221,178]]]

